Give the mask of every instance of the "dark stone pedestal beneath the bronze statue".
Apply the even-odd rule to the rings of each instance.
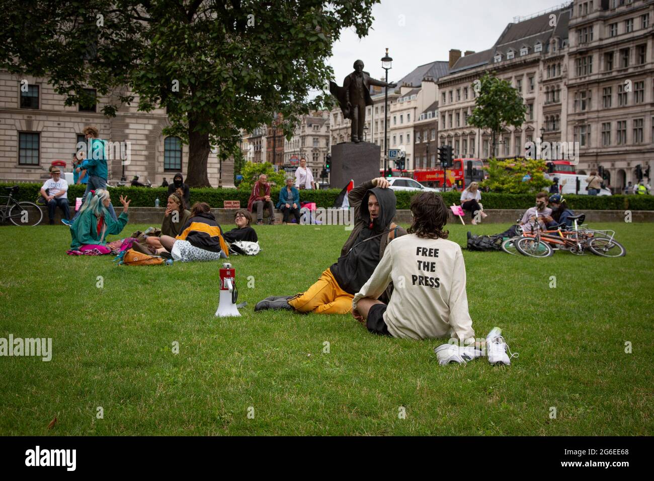
[[[379,177],[381,147],[370,142],[344,142],[332,146],[330,188],[343,188],[350,180],[360,183]]]

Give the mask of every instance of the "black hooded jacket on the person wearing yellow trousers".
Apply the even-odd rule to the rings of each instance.
[[[379,202],[379,216],[373,223],[370,222],[368,210],[370,194],[375,194]],[[355,211],[358,226],[356,238],[350,242],[347,251],[343,249],[341,257],[330,267],[343,291],[353,295],[358,293],[375,271],[383,250],[381,242],[387,238],[388,226],[395,217],[396,202],[395,193],[390,188],[374,187],[366,190],[360,207],[356,209],[358,212]]]

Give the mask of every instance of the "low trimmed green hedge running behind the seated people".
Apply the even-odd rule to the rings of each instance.
[[[4,192],[4,187],[10,187],[12,184],[0,183],[0,192]],[[24,183],[19,184],[18,199],[34,201],[39,196],[41,183]],[[72,200],[81,197],[84,194],[84,186],[71,185],[68,188],[68,198]],[[121,195],[127,195],[131,200],[133,207],[154,207],[154,200],[159,198],[160,205],[165,205],[167,188],[163,187],[114,187],[110,188],[111,199],[114,204],[118,204],[118,198]],[[315,202],[318,207],[332,207],[334,200],[341,192],[341,189],[332,188],[328,190],[300,190],[300,200]],[[408,209],[413,192],[395,192],[398,199],[398,209]],[[459,204],[460,192],[443,192],[445,204]],[[271,192],[273,202],[277,203],[279,198],[279,189]],[[497,194],[494,192],[484,192],[481,194],[482,204],[485,209],[526,209],[534,205],[534,194]],[[224,200],[239,200],[241,206],[247,206],[250,192],[243,192],[235,188],[192,188],[191,203],[207,202],[211,207],[222,207]],[[649,195],[617,195],[617,196],[575,196],[566,195],[566,200],[570,208],[576,211],[583,210],[627,210],[634,211],[654,211],[654,196]]]

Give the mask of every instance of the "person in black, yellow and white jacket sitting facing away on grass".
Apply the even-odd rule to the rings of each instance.
[[[191,207],[191,217],[176,237],[162,236],[162,248],[158,253],[169,255],[173,260],[218,260],[228,257],[228,247],[222,229],[206,202],[196,202]]]

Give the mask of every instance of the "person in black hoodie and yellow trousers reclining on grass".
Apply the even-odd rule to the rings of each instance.
[[[287,309],[319,314],[350,312],[352,299],[370,278],[390,241],[406,231],[392,222],[397,200],[384,177],[354,187],[347,194],[354,209],[354,228],[341,249],[341,257],[322,272],[318,281],[304,293],[268,297],[254,308]],[[385,299],[390,299],[387,287]],[[382,294],[382,293],[380,293]]]

